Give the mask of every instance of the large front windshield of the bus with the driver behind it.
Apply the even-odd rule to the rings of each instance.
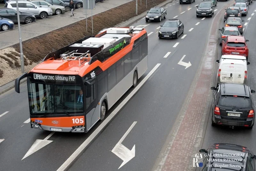
[[[31,116],[84,113],[84,95],[80,85],[56,85],[28,82]]]

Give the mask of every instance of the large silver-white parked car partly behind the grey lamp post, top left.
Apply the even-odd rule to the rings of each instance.
[[[35,14],[36,17],[40,17],[41,19],[45,19],[52,15],[52,9],[49,7],[40,7],[36,4],[33,4],[32,2],[24,0],[18,1],[18,3],[19,11],[21,12],[29,12]],[[8,1],[4,4],[4,7],[17,10],[16,1]]]

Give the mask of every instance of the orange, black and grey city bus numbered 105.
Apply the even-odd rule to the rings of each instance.
[[[115,27],[49,53],[28,73],[31,128],[88,132],[148,68],[145,28]]]

